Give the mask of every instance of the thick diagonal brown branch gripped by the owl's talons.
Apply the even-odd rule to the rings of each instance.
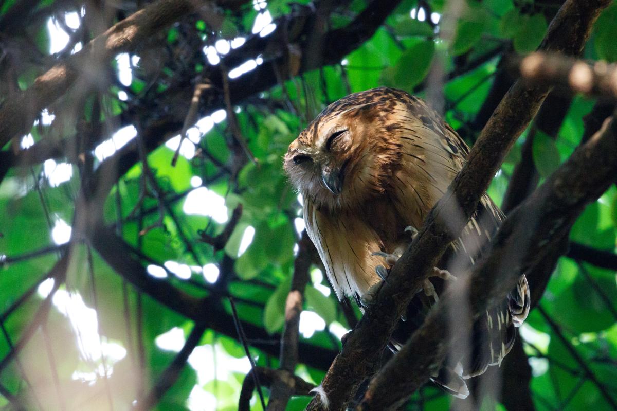
[[[541,47],[547,51],[579,54],[589,37],[593,23],[608,4],[610,4],[608,0],[566,1],[553,19]],[[368,308],[358,326],[349,335],[341,353],[321,383],[321,388],[328,396],[333,409],[344,409],[358,384],[375,371],[397,319],[416,291],[421,288],[423,280],[438,264],[446,247],[460,235],[463,226],[476,209],[479,198],[499,169],[503,157],[536,115],[549,89],[549,86],[528,88],[517,81],[495,109],[482,135],[471,149],[468,162],[458,173],[444,197],[433,207],[412,245],[392,268],[387,283],[383,284],[377,295],[375,304]],[[453,216],[457,218],[452,218]],[[415,272],[417,275],[410,276],[408,275],[410,272]],[[442,335],[444,329],[431,329],[430,331],[434,333],[433,338]],[[421,334],[423,333],[416,333],[415,339],[430,335]],[[433,352],[429,353],[427,359],[441,362],[445,355],[444,349],[445,344],[432,346]],[[391,402],[388,403],[394,404],[410,394],[411,386],[407,384],[410,375],[420,376],[421,383],[424,383],[431,370],[439,367],[439,363],[428,364],[424,362],[422,365],[418,364],[418,368],[406,368],[406,376],[405,378],[401,376],[400,381],[394,378],[396,383],[404,384],[405,387],[398,392],[399,397],[389,396]],[[409,370],[414,372],[410,373]],[[393,375],[384,377],[383,373],[380,373],[379,376],[379,384],[371,385],[366,392],[365,406],[368,409],[385,409],[368,402],[376,392],[379,392],[379,401],[385,401],[386,394],[381,391],[383,389],[381,383],[384,379],[391,380]],[[373,380],[374,383],[375,381]],[[412,385],[416,386],[415,383]],[[380,386],[381,389],[375,391],[376,386]],[[321,396],[317,396],[313,399],[308,409],[324,409],[320,398]]]

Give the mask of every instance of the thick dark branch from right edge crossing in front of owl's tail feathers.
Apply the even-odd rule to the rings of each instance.
[[[591,159],[594,173],[587,167]],[[611,120],[503,222],[470,276],[472,318],[505,299],[521,273],[542,260],[584,207],[611,185],[615,172],[617,122]],[[395,359],[373,379],[360,409],[383,410],[404,399],[426,381],[434,364],[441,364],[450,343],[469,331],[470,324],[462,322],[444,336],[448,313],[456,309],[454,292],[445,294]]]

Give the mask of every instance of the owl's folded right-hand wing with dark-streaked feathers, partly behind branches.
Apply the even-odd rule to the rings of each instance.
[[[405,223],[419,227],[463,167],[469,149],[422,101],[411,103],[407,110],[395,115],[399,116],[397,121],[405,124],[405,133],[400,135],[399,141],[402,164],[395,173],[395,185],[400,183],[400,186],[393,193],[399,193],[397,204],[399,214],[407,215]],[[450,210],[450,217],[463,218],[463,215]],[[462,235],[452,243],[452,252],[445,262],[451,272],[461,272],[460,268],[467,268],[478,260],[503,218],[499,207],[484,194]],[[482,374],[489,365],[502,361],[513,345],[514,328],[520,326],[529,313],[529,303],[529,286],[523,275],[508,299],[487,310],[474,324],[470,355],[462,359],[462,367],[457,370],[460,377]],[[465,396],[466,387],[465,384],[461,386],[460,378],[440,375],[434,380],[447,391]]]

